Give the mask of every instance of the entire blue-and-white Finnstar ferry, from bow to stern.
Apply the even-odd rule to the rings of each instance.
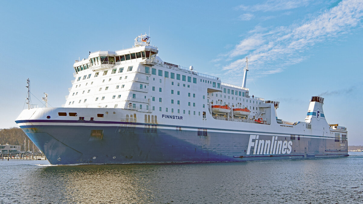
[[[311,97],[305,121],[287,122],[280,102],[251,96],[248,58],[242,86],[232,85],[163,61],[145,34],[73,67],[63,107],[28,106],[16,119],[51,164],[348,156],[347,130],[326,122],[322,97]]]

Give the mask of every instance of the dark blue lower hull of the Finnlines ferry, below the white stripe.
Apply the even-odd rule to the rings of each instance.
[[[149,126],[150,127],[150,126]],[[253,153],[250,134],[121,126],[21,126],[51,164],[228,162],[347,156],[334,140],[291,140],[289,154]],[[260,134],[260,139],[270,139]],[[277,138],[277,137],[276,137]],[[288,141],[290,138],[279,136]],[[263,146],[262,146],[263,147]],[[309,147],[306,149],[306,147]],[[335,148],[337,147],[337,148]],[[250,152],[248,154],[248,152]]]

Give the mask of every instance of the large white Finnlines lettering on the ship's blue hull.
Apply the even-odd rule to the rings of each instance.
[[[253,154],[290,154],[292,141],[277,140],[277,136],[272,136],[271,140],[258,139],[258,135],[250,135],[247,154],[250,154],[253,147]]]

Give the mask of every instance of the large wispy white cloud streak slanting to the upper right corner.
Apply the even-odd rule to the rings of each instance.
[[[279,2],[282,4],[282,1]],[[286,3],[285,8],[292,8],[294,5],[297,6]],[[255,9],[257,8],[262,10],[265,7],[258,5]],[[250,37],[240,41],[225,54],[227,61],[236,57],[242,59],[234,59],[224,66],[223,70],[226,70],[226,74],[233,73],[236,78],[241,77],[245,66],[244,58],[249,56],[249,63],[253,64],[257,77],[282,72],[286,66],[306,60],[309,56],[303,52],[315,44],[350,33],[352,29],[362,24],[362,17],[362,0],[343,0],[335,7],[299,24],[270,30],[256,26],[248,32],[251,34]]]

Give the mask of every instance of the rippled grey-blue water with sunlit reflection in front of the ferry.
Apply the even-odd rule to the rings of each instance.
[[[81,166],[0,160],[0,203],[362,203],[363,152],[350,155]]]

